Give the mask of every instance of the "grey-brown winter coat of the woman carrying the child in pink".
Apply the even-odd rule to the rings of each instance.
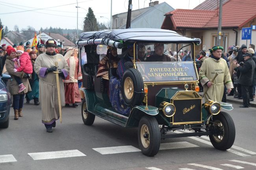
[[[6,69],[9,73],[9,75],[11,75],[11,79],[8,80],[8,87],[9,87],[9,91],[11,93],[11,95],[18,95],[18,94],[25,94],[28,91],[31,91],[30,88],[30,84],[28,82],[28,78],[23,78],[24,76],[24,72],[14,72],[14,62],[11,60],[11,58],[9,58],[9,56],[6,58]],[[23,85],[26,87],[26,89],[24,91],[22,91],[21,93],[18,93],[19,91],[19,84],[16,82],[16,80],[14,79],[14,76],[20,77],[20,79],[23,82]]]

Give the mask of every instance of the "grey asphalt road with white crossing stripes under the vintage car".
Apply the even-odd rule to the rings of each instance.
[[[47,133],[40,106],[24,104],[24,117],[13,120],[11,110],[9,128],[0,129],[0,170],[209,169],[202,165],[213,170],[256,169],[256,108],[234,104],[228,113],[236,126],[230,150],[216,150],[207,137],[184,137],[162,140],[163,150],[147,157],[139,152],[137,128],[122,128],[98,117],[92,126],[86,126],[79,105],[63,108],[62,124],[58,121],[54,132]]]

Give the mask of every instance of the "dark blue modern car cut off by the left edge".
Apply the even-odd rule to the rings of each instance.
[[[9,113],[11,108],[11,94],[6,88],[6,82],[11,79],[10,75],[0,76],[0,128],[8,128]]]

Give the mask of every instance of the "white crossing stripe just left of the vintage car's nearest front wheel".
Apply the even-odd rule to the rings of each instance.
[[[135,148],[134,146],[114,146],[114,147],[105,147],[105,148],[93,148],[93,150],[99,152],[102,155],[141,151],[138,148]]]

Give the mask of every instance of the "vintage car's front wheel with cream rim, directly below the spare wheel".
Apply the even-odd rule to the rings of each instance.
[[[144,155],[154,156],[158,153],[161,134],[155,117],[143,116],[138,129],[139,148]]]

